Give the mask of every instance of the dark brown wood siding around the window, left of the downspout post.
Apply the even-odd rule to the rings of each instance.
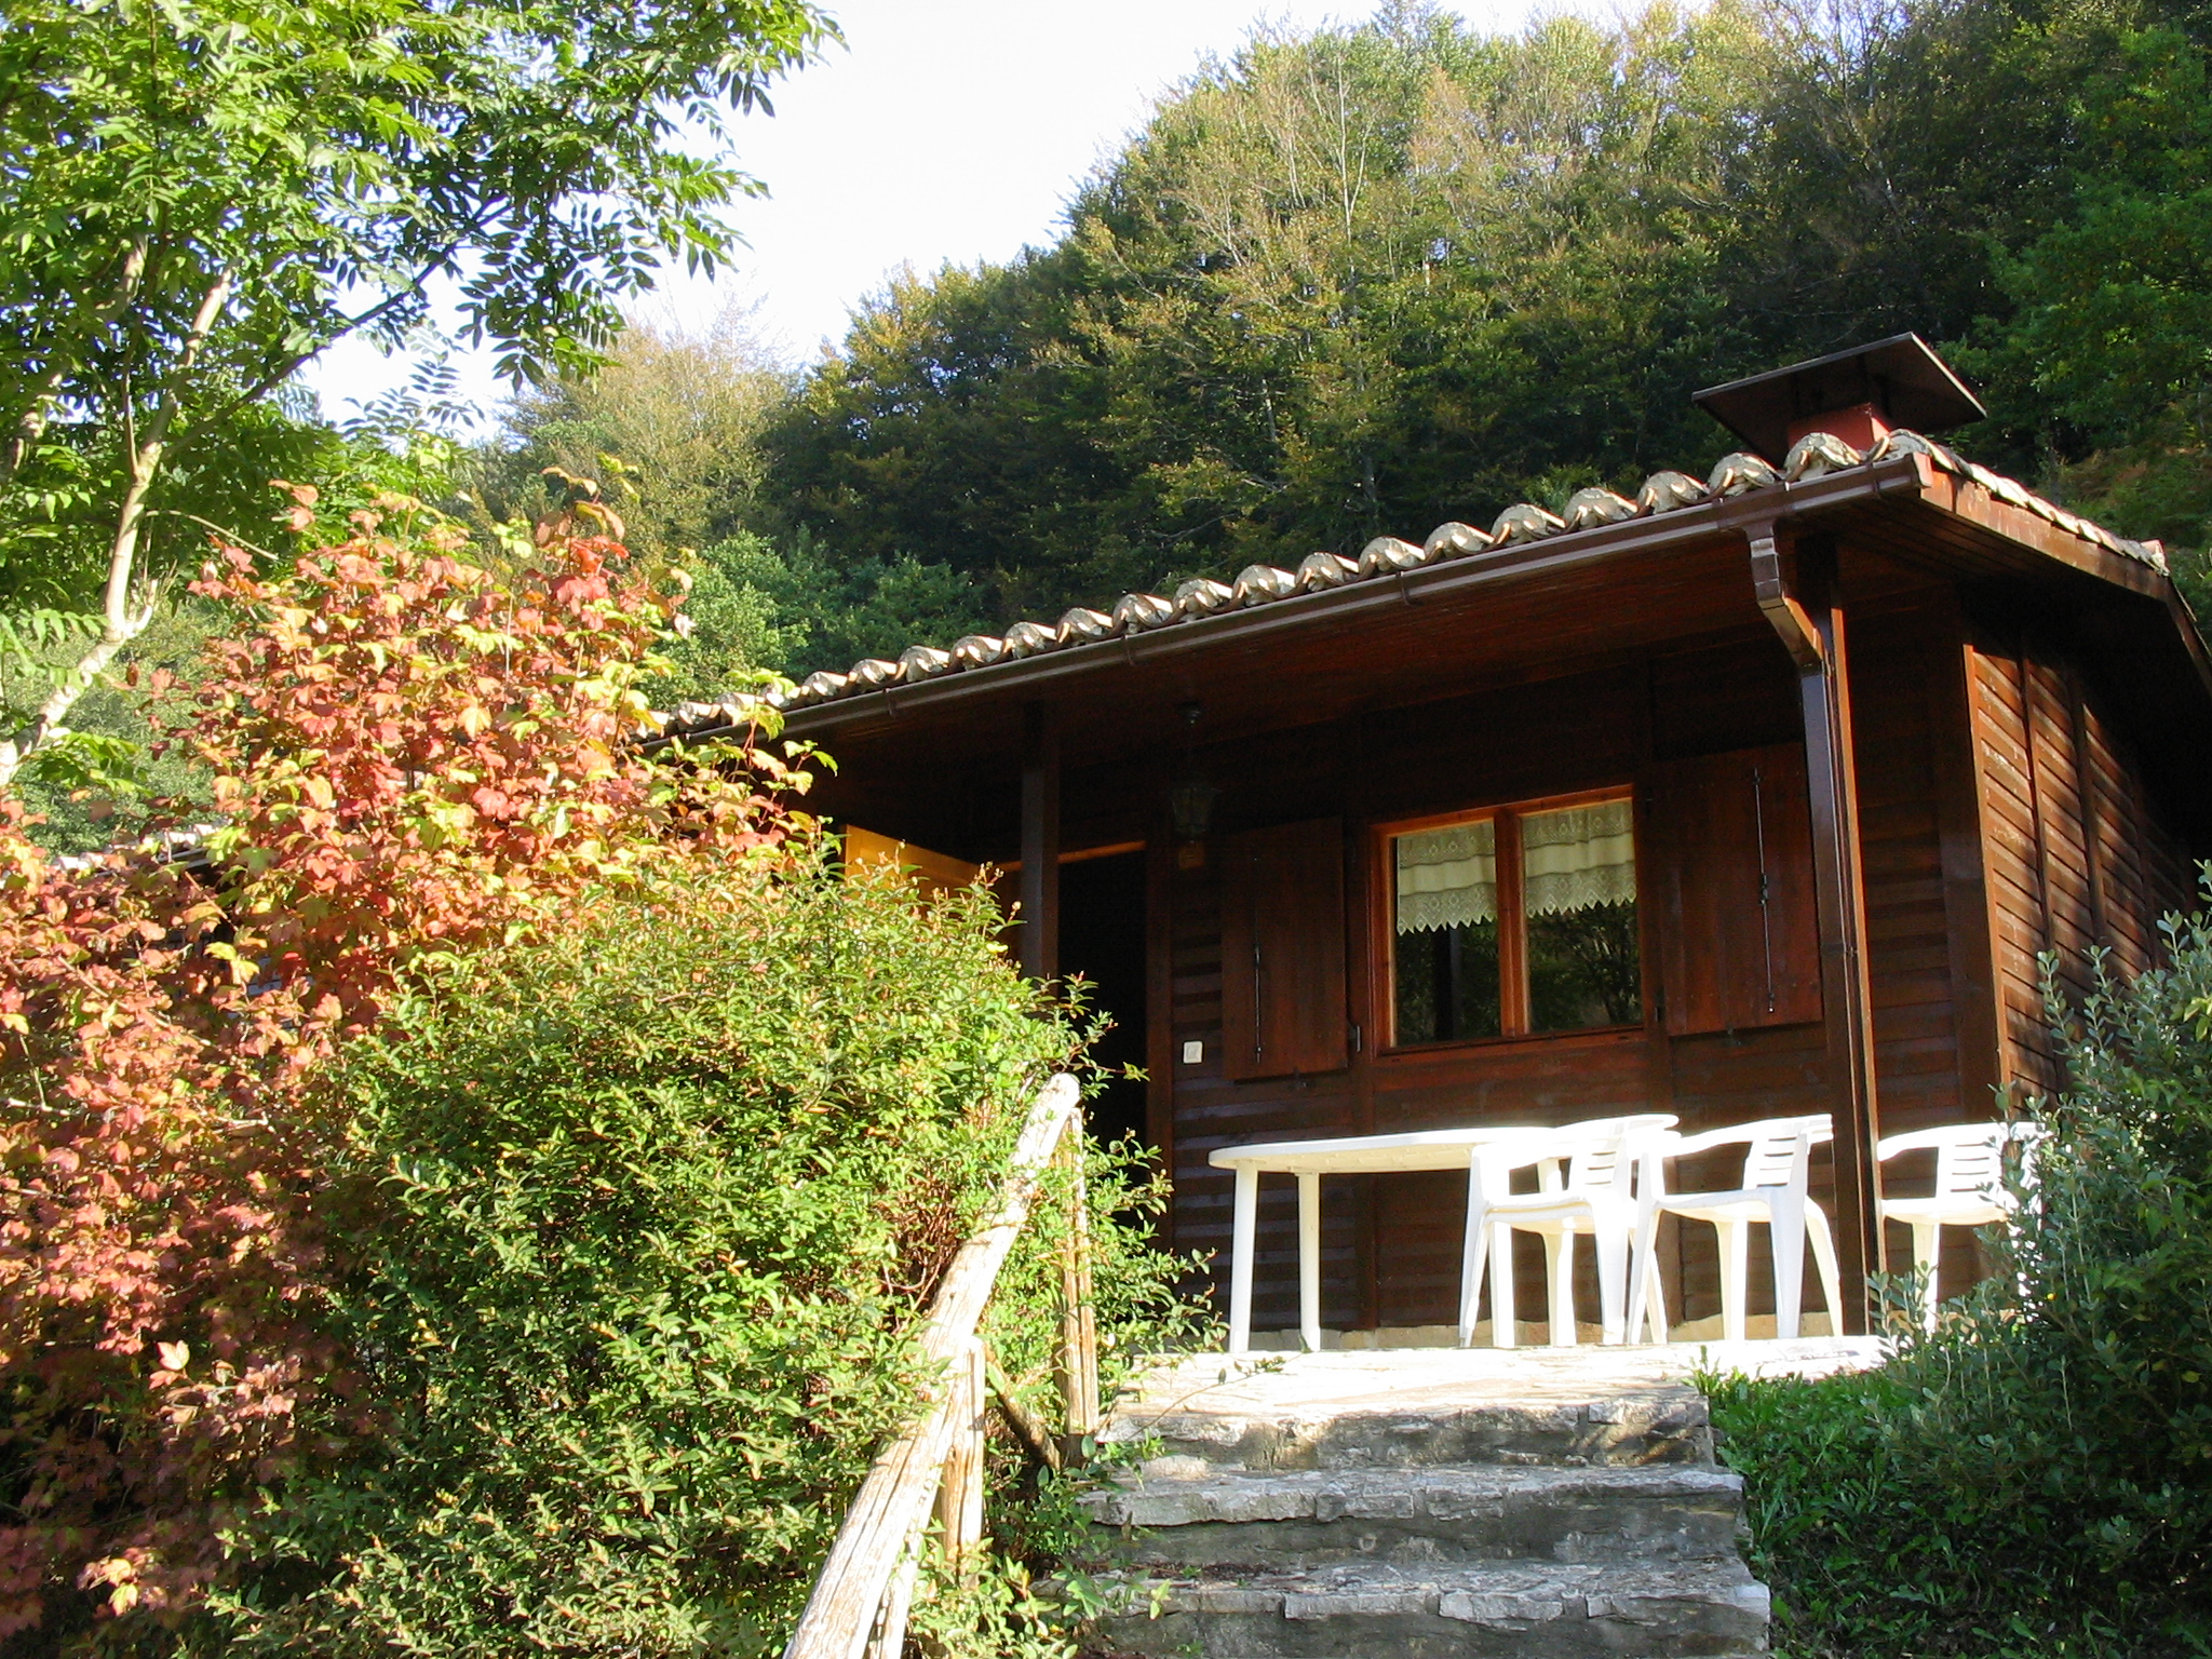
[[[1659,657],[1632,668],[1513,686],[1486,697],[1389,710],[1356,723],[1294,734],[1265,750],[1201,752],[1199,768],[1221,787],[1221,834],[1201,867],[1164,869],[1172,962],[1172,1146],[1175,1245],[1214,1256],[1225,1283],[1230,1181],[1208,1164],[1234,1141],[1301,1139],[1440,1128],[1480,1121],[1575,1121],[1630,1110],[1674,1110],[1686,1128],[1776,1113],[1825,1110],[1827,1079],[1818,1004],[1796,1024],[1668,1037],[1661,1024],[1635,1031],[1575,1033],[1376,1051],[1387,987],[1376,905],[1369,825],[1431,812],[1632,785],[1639,834],[1650,832],[1657,779],[1701,754],[1743,754],[1785,743],[1794,787],[1803,759],[1792,739],[1796,695],[1787,659],[1770,635],[1741,644]],[[1338,765],[1332,757],[1349,757]],[[1790,772],[1783,765],[1783,772]],[[1347,1011],[1358,1042],[1343,1071],[1237,1079],[1225,987],[1223,902],[1248,832],[1276,816],[1290,825],[1316,810],[1343,814],[1345,920],[1349,940]],[[1783,818],[1776,838],[1787,841]],[[1803,841],[1803,805],[1794,823]],[[1743,849],[1752,856],[1752,849]],[[1314,849],[1301,854],[1312,860]],[[1776,852],[1776,858],[1783,854]],[[1807,852],[1794,854],[1809,858]],[[1803,883],[1801,872],[1776,872]],[[1646,938],[1657,889],[1650,854],[1639,874]],[[1756,880],[1756,874],[1754,874]],[[1234,902],[1234,900],[1232,900]],[[1318,920],[1314,922],[1318,925]],[[1666,969],[1646,951],[1648,978]],[[1241,993],[1248,982],[1241,982]],[[1186,1044],[1201,1060],[1183,1064]],[[1825,1170],[1823,1170],[1825,1186]],[[1455,1318],[1464,1181],[1449,1175],[1394,1175],[1325,1181],[1323,1321],[1329,1327],[1447,1325]],[[1763,1250],[1763,1245],[1761,1245]],[[1588,1256],[1588,1252],[1582,1252]],[[1524,1316],[1542,1316],[1542,1252],[1517,1252]],[[1690,1241],[1681,1279],[1686,1316],[1719,1312],[1710,1228]],[[1588,1263],[1584,1263],[1588,1270]],[[1279,1329],[1296,1312],[1296,1206],[1287,1179],[1261,1186],[1261,1243],[1254,1276],[1254,1327]],[[1595,1310],[1595,1285],[1582,1303]],[[1225,1292],[1223,1292],[1225,1294]],[[1765,1307],[1763,1292],[1754,1307]]]

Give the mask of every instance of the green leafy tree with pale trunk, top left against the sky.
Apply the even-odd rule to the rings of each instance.
[[[13,710],[0,776],[201,544],[190,478],[276,471],[254,427],[307,358],[405,338],[447,281],[504,372],[591,367],[752,188],[679,124],[726,139],[827,38],[807,0],[11,7],[0,518],[53,533],[11,538],[0,606],[84,650]]]

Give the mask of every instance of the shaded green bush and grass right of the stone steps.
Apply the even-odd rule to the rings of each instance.
[[[1712,1383],[1790,1652],[2212,1650],[2212,925],[2166,927],[2170,967],[2053,1000],[2035,1203],[1942,1329]]]

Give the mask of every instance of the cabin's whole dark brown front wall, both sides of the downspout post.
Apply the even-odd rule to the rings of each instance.
[[[1949,599],[1947,593],[1938,595]],[[1947,635],[1944,628],[1951,628]],[[1854,622],[1858,754],[1867,843],[1876,1046],[1905,1126],[1964,1113],[1953,1015],[1951,931],[1940,845],[1938,699],[1927,657],[1955,648],[1955,622],[1922,597]],[[1955,655],[1955,650],[1953,650]],[[1175,1168],[1175,1245],[1225,1274],[1230,1181],[1208,1155],[1232,1141],[1380,1135],[1473,1121],[1573,1121],[1672,1110],[1686,1130],[1829,1108],[1818,1006],[1812,1018],[1670,1035],[1661,973],[1670,847],[1670,779],[1710,761],[1794,759],[1803,790],[1798,706],[1772,635],[1745,633],[1694,650],[1566,679],[1276,734],[1239,750],[1201,750],[1221,790],[1217,832],[1197,869],[1159,863],[1168,942],[1172,1064],[1157,1121]],[[1710,770],[1710,768],[1708,768]],[[1584,790],[1632,785],[1639,801],[1639,909],[1648,1009],[1641,1026],[1378,1051],[1387,995],[1378,953],[1380,863],[1369,825]],[[1343,852],[1338,918],[1349,1064],[1234,1082],[1223,1066],[1223,854],[1241,832],[1334,818]],[[1792,821],[1794,823],[1794,821]],[[1770,830],[1770,834],[1774,834]],[[1803,830],[1794,830],[1803,836]],[[1679,849],[1694,854],[1697,849]],[[1809,858],[1809,854],[1807,854]],[[1781,880],[1781,872],[1776,872]],[[1807,900],[1809,902],[1809,900]],[[1316,920],[1316,925],[1321,925]],[[1243,949],[1239,945],[1239,949]],[[1681,969],[1674,969],[1677,973]],[[1677,1020],[1674,1024],[1681,1024]],[[1889,1119],[1885,1119],[1889,1121]],[[1692,1179],[1732,1183],[1728,1155]],[[1827,1170],[1816,1168],[1816,1190]],[[1449,1175],[1343,1177],[1325,1183],[1323,1323],[1447,1325],[1455,1318],[1464,1181]],[[1759,1237],[1756,1250],[1765,1250]],[[1670,1303],[1681,1318],[1719,1312],[1710,1228],[1663,1241]],[[1584,1276],[1588,1276],[1584,1252]],[[1535,1248],[1517,1252],[1522,1307],[1542,1307]],[[1960,1265],[1969,1265],[1962,1261]],[[1770,1307],[1754,1263],[1754,1312]],[[1267,1181],[1254,1287],[1259,1329],[1294,1323],[1294,1192]],[[1595,1307],[1595,1285],[1582,1305]]]

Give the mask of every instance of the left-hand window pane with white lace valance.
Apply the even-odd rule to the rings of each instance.
[[[1398,1042],[1495,1037],[1498,825],[1396,836]]]

